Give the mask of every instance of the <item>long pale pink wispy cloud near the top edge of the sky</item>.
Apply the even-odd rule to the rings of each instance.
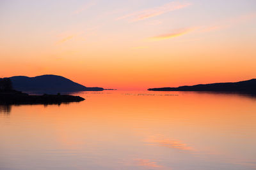
[[[164,4],[163,6],[158,6],[156,8],[151,8],[148,10],[130,13],[128,15],[118,17],[118,18],[116,18],[116,20],[123,20],[123,19],[128,18],[132,22],[136,22],[138,20],[145,20],[147,18],[156,17],[157,15],[162,15],[162,14],[168,13],[170,11],[186,8],[189,5],[191,5],[191,4],[190,3],[180,3],[178,1],[174,1],[171,3]]]

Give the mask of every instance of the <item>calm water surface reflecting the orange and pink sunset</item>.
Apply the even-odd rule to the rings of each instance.
[[[256,98],[104,91],[0,106],[0,169],[255,169]]]

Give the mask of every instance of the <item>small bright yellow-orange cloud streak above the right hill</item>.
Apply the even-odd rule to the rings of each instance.
[[[159,40],[163,40],[163,39],[170,39],[170,38],[174,38],[174,37],[177,37],[177,36],[182,36],[182,35],[187,34],[188,32],[191,32],[193,30],[194,29],[179,29],[177,31],[170,32],[168,34],[161,34],[159,36],[154,36],[154,37],[149,38],[149,39],[153,40],[153,41],[159,41]]]

